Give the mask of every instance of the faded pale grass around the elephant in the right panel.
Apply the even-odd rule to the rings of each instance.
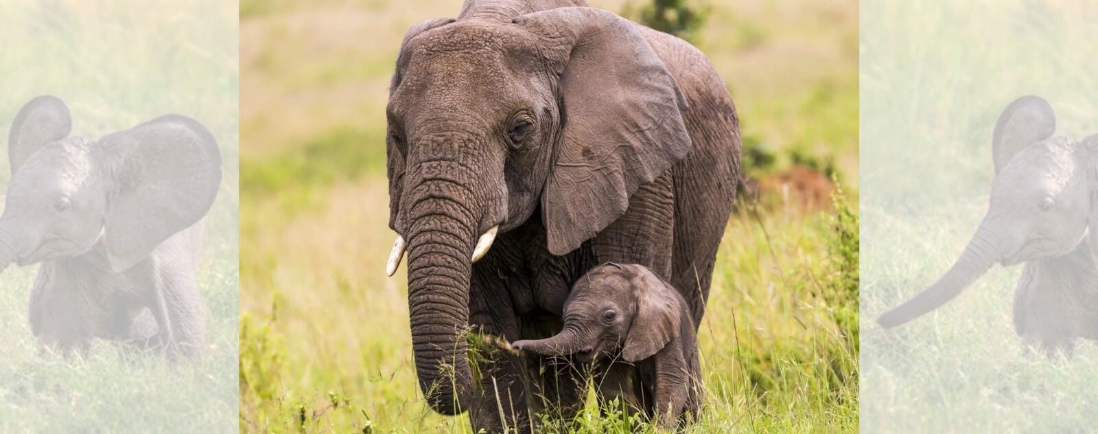
[[[991,131],[1023,94],[1057,133],[1098,132],[1091,2],[862,2],[861,424],[869,432],[1079,432],[1098,413],[1098,347],[1027,355],[994,267],[901,329],[872,320],[933,283],[987,207]],[[916,427],[920,430],[915,430]]]

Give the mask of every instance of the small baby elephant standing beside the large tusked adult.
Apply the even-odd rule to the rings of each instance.
[[[513,346],[542,356],[573,355],[583,363],[609,363],[618,383],[621,359],[632,363],[639,383],[614,390],[640,397],[642,410],[663,426],[674,426],[687,412],[697,413],[701,369],[694,321],[682,296],[648,267],[608,263],[580,278],[564,303],[564,327],[544,340]],[[605,386],[605,385],[603,385]],[[609,394],[601,390],[604,397]]]

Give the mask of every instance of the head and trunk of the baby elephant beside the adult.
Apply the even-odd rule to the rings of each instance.
[[[564,327],[544,340],[512,345],[542,356],[580,361],[639,361],[663,349],[682,330],[684,302],[670,283],[639,265],[607,264],[580,278],[564,303]],[[693,324],[693,322],[691,322]],[[685,367],[683,367],[685,370]]]

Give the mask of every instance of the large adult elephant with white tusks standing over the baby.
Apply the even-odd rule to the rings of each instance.
[[[506,354],[475,381],[467,327],[551,336],[572,283],[606,261],[651,268],[701,321],[733,202],[738,121],[705,56],[610,12],[554,9],[572,5],[469,0],[408,31],[392,80],[390,227],[407,242],[419,386],[475,429],[502,430],[498,402],[523,430],[546,403],[567,416],[583,390]]]

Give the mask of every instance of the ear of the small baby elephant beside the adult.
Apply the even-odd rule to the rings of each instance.
[[[679,337],[683,321],[682,298],[670,283],[643,268],[637,272],[632,285],[637,311],[621,349],[621,358],[626,361],[643,360],[659,353],[671,340]]]

